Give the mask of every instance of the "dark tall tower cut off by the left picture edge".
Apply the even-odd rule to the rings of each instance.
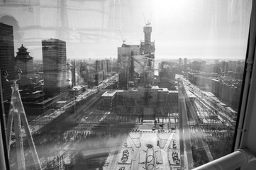
[[[0,23],[0,69],[1,74],[7,71],[9,79],[14,79],[15,72],[15,58],[13,45],[13,27]],[[2,81],[4,101],[11,99],[11,82]]]

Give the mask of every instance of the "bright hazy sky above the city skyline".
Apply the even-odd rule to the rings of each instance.
[[[156,58],[243,59],[251,8],[251,1],[243,0],[0,0],[0,4],[0,22],[15,29],[15,49],[23,43],[35,60],[42,59],[41,40],[48,38],[65,40],[68,58],[117,58],[121,35],[127,44],[140,44],[145,21],[152,26]]]

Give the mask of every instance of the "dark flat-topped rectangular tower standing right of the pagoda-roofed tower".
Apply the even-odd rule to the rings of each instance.
[[[44,91],[48,96],[67,93],[66,42],[58,39],[42,40]]]

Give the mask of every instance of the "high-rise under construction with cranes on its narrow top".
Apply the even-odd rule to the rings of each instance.
[[[155,42],[151,41],[152,27],[143,28],[144,41],[140,45],[123,43],[118,47],[119,88],[128,89],[133,84],[153,84],[155,67]]]

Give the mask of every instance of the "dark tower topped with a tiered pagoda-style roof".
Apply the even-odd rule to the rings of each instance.
[[[18,84],[23,86],[28,86],[30,84],[30,78],[34,77],[33,72],[33,57],[27,52],[28,48],[21,45],[16,52],[16,67],[21,69],[23,74],[21,74],[21,79],[18,81]]]

